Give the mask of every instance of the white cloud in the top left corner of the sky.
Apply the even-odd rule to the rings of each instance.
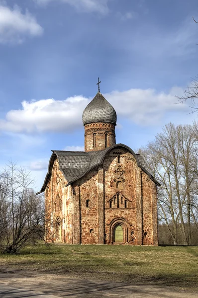
[[[39,36],[43,28],[26,10],[23,14],[15,5],[13,9],[0,4],[0,43],[21,43],[26,36]]]

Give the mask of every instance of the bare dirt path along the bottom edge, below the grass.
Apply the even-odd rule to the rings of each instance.
[[[3,295],[2,289],[10,288],[16,292],[19,288],[28,289],[57,298],[198,298],[198,294],[175,292],[168,287],[85,280],[1,267],[0,297],[8,297]],[[34,297],[40,297],[36,295],[35,292]]]

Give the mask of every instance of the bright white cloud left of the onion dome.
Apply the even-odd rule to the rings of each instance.
[[[11,110],[0,120],[0,130],[15,133],[72,132],[82,125],[82,111],[88,104],[83,96],[66,100],[23,101],[21,110]]]

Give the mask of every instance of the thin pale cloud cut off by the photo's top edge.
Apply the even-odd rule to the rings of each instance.
[[[108,0],[34,0],[39,5],[46,5],[52,1],[60,1],[74,6],[77,10],[83,12],[97,11],[101,14],[108,12],[107,2]]]

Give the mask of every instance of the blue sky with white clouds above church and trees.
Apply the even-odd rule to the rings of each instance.
[[[0,0],[0,168],[39,190],[51,149],[82,150],[82,112],[101,93],[116,141],[136,150],[162,126],[197,121],[175,104],[198,74],[197,0]]]

